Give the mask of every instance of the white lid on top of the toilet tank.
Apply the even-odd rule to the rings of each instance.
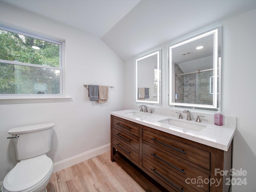
[[[54,125],[55,125],[55,123],[44,123],[44,124],[38,124],[38,125],[15,127],[15,128],[8,130],[8,134],[15,135],[15,134],[36,132],[36,131],[40,131],[40,130],[44,130],[44,129],[50,129]]]

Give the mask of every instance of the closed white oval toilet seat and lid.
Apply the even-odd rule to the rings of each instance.
[[[53,162],[46,154],[22,160],[5,176],[4,191],[30,192],[47,180],[52,171]]]

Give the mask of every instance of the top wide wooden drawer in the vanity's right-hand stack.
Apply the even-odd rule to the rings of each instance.
[[[143,130],[143,140],[210,170],[210,153],[193,146],[178,142],[148,130]]]

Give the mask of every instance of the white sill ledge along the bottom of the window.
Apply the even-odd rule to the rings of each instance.
[[[28,104],[28,103],[56,103],[71,102],[71,97],[51,97],[51,98],[0,98],[0,105],[6,104]]]

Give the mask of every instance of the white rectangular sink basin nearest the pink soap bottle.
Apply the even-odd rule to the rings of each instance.
[[[198,123],[193,123],[193,122],[184,122],[182,120],[175,120],[172,118],[167,118],[164,120],[160,120],[158,122],[176,126],[176,127],[180,127],[180,128],[184,128],[184,129],[188,129],[188,130],[192,130],[192,131],[202,131],[204,128],[206,128],[206,125],[204,125],[204,124],[198,124]]]

